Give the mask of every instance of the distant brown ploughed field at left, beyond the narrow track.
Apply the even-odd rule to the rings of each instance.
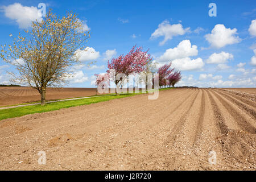
[[[86,97],[96,94],[96,88],[48,88],[46,90],[46,100],[59,100],[73,97]],[[0,86],[0,106],[24,104],[28,102],[40,101],[38,90],[30,87],[1,87]]]

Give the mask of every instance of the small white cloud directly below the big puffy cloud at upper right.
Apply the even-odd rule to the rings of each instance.
[[[221,53],[213,53],[210,55],[209,59],[207,60],[208,64],[221,64],[226,63],[228,60],[233,59],[233,55],[228,52],[222,51]]]

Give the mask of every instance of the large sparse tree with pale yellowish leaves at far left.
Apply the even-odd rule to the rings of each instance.
[[[73,65],[79,64],[81,51],[90,38],[82,22],[72,12],[62,18],[48,11],[42,21],[32,22],[30,30],[13,37],[13,44],[1,46],[1,58],[13,64],[17,72],[10,72],[12,82],[31,86],[46,104],[46,88],[67,84]],[[88,63],[89,64],[89,63]]]

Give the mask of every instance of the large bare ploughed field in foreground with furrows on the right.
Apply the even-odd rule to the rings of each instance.
[[[32,114],[0,122],[0,169],[255,170],[255,121],[254,100],[220,89]]]

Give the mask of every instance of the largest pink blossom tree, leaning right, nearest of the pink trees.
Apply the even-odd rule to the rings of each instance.
[[[117,88],[120,88],[129,74],[140,73],[144,71],[146,65],[152,60],[147,51],[142,51],[142,47],[133,46],[127,55],[120,55],[108,61],[108,73],[114,81]],[[118,74],[122,74],[119,76]],[[119,78],[118,78],[119,76]],[[117,93],[117,89],[115,90]]]

